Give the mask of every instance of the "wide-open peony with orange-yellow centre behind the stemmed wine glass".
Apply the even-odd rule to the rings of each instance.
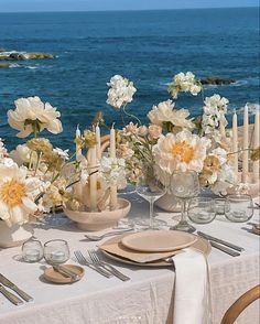
[[[176,136],[161,136],[153,148],[159,180],[165,181],[174,170],[201,172],[209,147],[210,140],[199,138],[188,130],[183,130]]]

